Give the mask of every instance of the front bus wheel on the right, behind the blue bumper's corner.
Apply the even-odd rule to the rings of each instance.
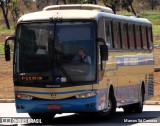
[[[102,116],[106,116],[107,118],[111,118],[115,112],[116,112],[116,98],[112,92],[109,94],[109,100],[108,100],[108,109],[104,109],[100,114]]]

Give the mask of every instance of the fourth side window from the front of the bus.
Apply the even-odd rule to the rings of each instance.
[[[128,24],[129,47],[135,49],[133,24]]]

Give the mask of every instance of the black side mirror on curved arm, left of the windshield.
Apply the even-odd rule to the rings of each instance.
[[[6,61],[10,61],[11,60],[10,45],[8,43],[9,40],[14,40],[14,36],[9,36],[5,40],[4,53],[5,53],[5,60]]]

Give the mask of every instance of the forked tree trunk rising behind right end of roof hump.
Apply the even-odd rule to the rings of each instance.
[[[103,0],[103,3],[106,7],[110,7],[116,14],[116,10],[120,5],[121,0]]]

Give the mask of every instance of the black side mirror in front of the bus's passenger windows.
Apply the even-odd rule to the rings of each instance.
[[[108,46],[107,45],[100,45],[100,54],[101,54],[102,61],[108,60]]]

